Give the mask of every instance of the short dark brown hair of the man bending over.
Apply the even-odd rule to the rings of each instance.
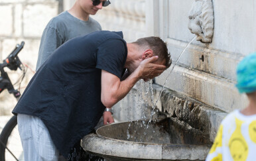
[[[153,50],[153,54],[155,56],[159,56],[160,60],[165,60],[166,68],[170,67],[172,64],[172,59],[170,58],[170,53],[168,52],[168,48],[166,43],[159,37],[150,36],[145,38],[139,38],[137,41],[133,42],[139,46],[147,46],[151,50]]]

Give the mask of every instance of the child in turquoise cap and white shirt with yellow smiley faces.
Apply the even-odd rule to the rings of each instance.
[[[249,105],[225,117],[206,161],[256,160],[256,52],[239,62],[236,87]]]

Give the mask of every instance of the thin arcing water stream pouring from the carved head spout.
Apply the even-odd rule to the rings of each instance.
[[[162,85],[162,89],[159,93],[159,97],[157,97],[157,101],[155,102],[154,106],[153,106],[153,111],[151,113],[151,118],[149,119],[149,123],[151,123],[153,115],[155,114],[155,107],[157,105],[157,102],[159,101],[160,95],[162,94],[162,91],[164,90],[164,86],[166,85],[166,82],[168,81],[168,78],[170,76],[170,74],[172,73],[172,70],[174,69],[174,67],[176,66],[178,60],[180,60],[180,57],[182,56],[182,54],[185,52],[185,50],[188,48],[188,46],[190,46],[190,44],[193,42],[193,40],[196,38],[196,36],[194,36],[194,38],[192,38],[192,40],[186,45],[186,47],[184,48],[184,50],[180,53],[180,55],[178,56],[178,59],[176,60],[176,62],[174,63],[174,65],[172,66],[172,68],[170,69],[170,72],[168,73],[166,80],[164,82],[164,85]],[[149,123],[147,125],[147,128],[149,128]]]

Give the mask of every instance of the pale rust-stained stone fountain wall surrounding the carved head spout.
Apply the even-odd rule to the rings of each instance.
[[[170,74],[166,87],[227,113],[245,107],[247,99],[244,95],[239,95],[235,88],[235,68],[243,56],[255,50],[255,31],[252,29],[255,27],[255,9],[248,7],[253,2],[255,3],[251,0],[222,3],[214,0],[212,43],[203,44],[194,40]],[[164,27],[159,27],[159,35],[168,43],[174,63],[186,44],[195,36],[188,30],[188,12],[192,3],[194,0],[159,1],[163,8],[162,11],[159,10],[159,19],[162,12],[168,13],[162,18],[166,21],[162,23]],[[232,4],[231,7],[228,4]],[[157,7],[153,9],[156,10]],[[240,21],[243,23],[237,23]],[[157,78],[156,82],[163,85],[170,69]]]

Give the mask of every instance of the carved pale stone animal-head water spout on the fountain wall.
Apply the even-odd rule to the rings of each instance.
[[[210,43],[214,35],[214,6],[212,0],[195,0],[190,9],[188,28],[196,40]]]

